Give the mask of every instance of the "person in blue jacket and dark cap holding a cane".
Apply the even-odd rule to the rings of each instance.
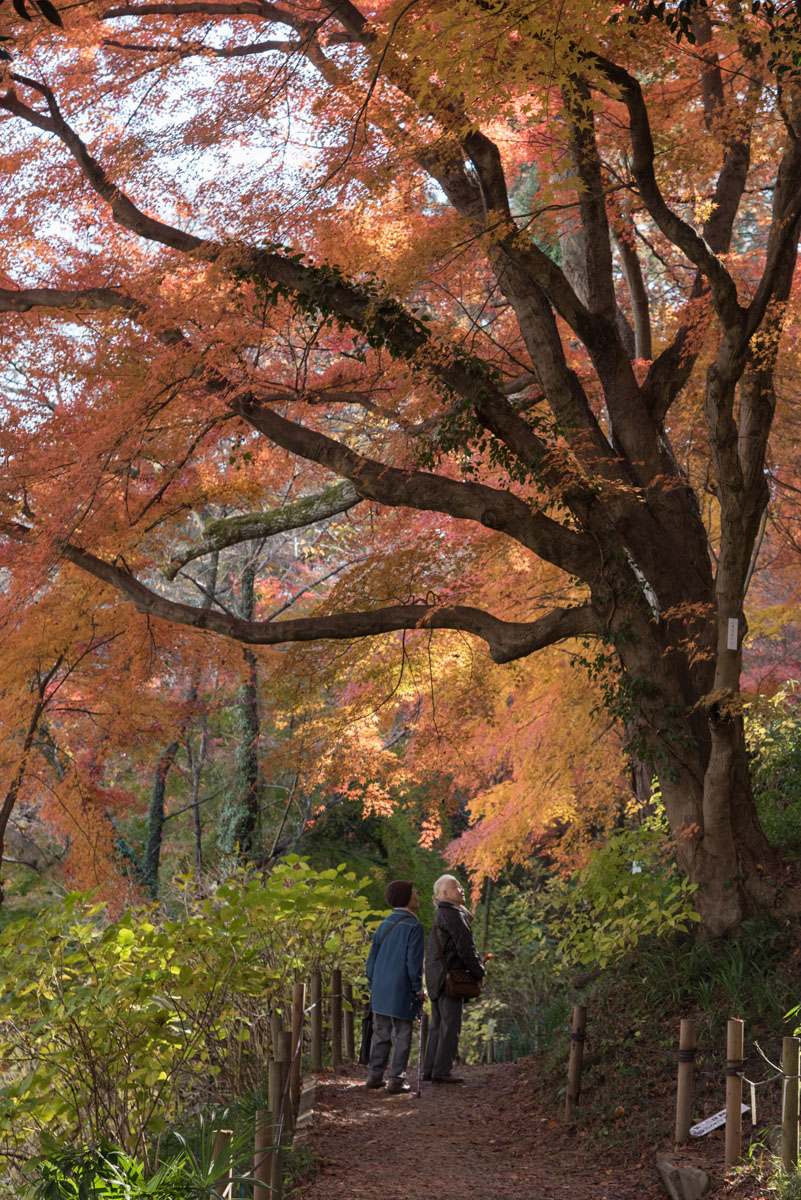
[[[384,1087],[384,1072],[392,1051],[386,1090],[391,1096],[410,1092],[406,1063],[411,1050],[411,1027],[424,1000],[423,926],[415,913],[420,896],[414,883],[393,880],[384,893],[392,912],[373,935],[367,959],[373,1009],[367,1087]]]

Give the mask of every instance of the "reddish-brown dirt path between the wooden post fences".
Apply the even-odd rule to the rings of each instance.
[[[652,1154],[603,1160],[535,1106],[524,1067],[459,1074],[420,1099],[368,1091],[362,1067],[323,1076],[308,1135],[320,1168],[301,1200],[664,1200]]]

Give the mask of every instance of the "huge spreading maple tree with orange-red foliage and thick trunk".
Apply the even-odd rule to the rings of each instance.
[[[459,697],[414,754],[488,796],[544,786],[537,704],[570,721],[589,670],[706,931],[735,929],[776,868],[740,692],[795,470],[790,17],[28,7],[0,8],[0,835],[34,776],[108,808],[212,667],[327,672],[357,773],[414,707],[404,683],[377,716],[369,680],[408,656]]]

